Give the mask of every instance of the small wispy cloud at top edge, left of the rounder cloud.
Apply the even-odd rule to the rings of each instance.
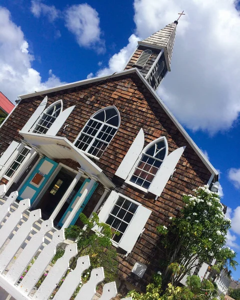
[[[41,14],[46,15],[50,22],[60,16],[60,11],[54,5],[46,5],[41,0],[31,1],[31,11],[36,17],[40,17]]]

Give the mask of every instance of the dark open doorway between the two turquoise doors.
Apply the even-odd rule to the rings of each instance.
[[[42,218],[48,219],[73,181],[76,174],[62,167],[34,207],[41,208]],[[61,211],[60,211],[61,212]],[[58,216],[60,217],[60,215]]]

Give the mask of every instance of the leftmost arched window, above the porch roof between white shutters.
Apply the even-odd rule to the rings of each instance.
[[[52,124],[62,111],[62,107],[63,103],[62,100],[60,100],[54,102],[47,109],[45,109],[43,114],[38,119],[37,124],[34,126],[33,132],[46,134],[48,129],[52,126]]]

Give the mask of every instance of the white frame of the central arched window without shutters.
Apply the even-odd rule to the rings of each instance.
[[[101,112],[101,111],[103,111],[103,110],[110,109],[110,108],[114,108],[114,109],[116,110],[117,114],[118,114],[118,126],[113,126],[113,125],[108,124],[107,122],[103,122],[103,121],[100,121],[100,120],[97,120],[97,119],[96,119],[96,121],[102,123],[102,125],[101,125],[100,128],[98,129],[97,133],[96,133],[95,136],[93,137],[92,141],[90,142],[90,144],[88,145],[88,147],[87,147],[86,150],[82,150],[82,149],[78,148],[75,144],[77,143],[77,141],[78,141],[78,139],[79,139],[79,137],[80,137],[80,135],[81,135],[82,133],[84,133],[85,135],[91,136],[91,135],[86,134],[85,132],[83,132],[83,130],[84,130],[84,128],[86,127],[86,125],[88,124],[88,122],[89,122],[92,118],[94,118],[94,116],[95,116],[96,114],[98,114],[99,112]],[[94,120],[95,120],[95,119],[94,119]],[[104,153],[105,150],[103,151],[103,153],[101,154],[100,157],[97,157],[97,156],[95,156],[95,155],[89,153],[88,150],[92,147],[94,141],[96,140],[96,136],[98,135],[98,133],[100,132],[100,130],[103,128],[103,126],[104,126],[105,124],[108,125],[108,126],[110,126],[110,127],[112,127],[112,128],[117,129],[116,132],[113,134],[111,140],[108,142],[108,144],[107,144],[107,146],[106,146],[106,148],[105,148],[105,150],[106,150],[107,147],[108,147],[108,145],[110,144],[110,142],[113,140],[113,138],[114,138],[115,134],[117,133],[117,131],[118,131],[119,127],[120,127],[120,124],[121,124],[121,116],[120,116],[119,110],[117,109],[117,107],[116,107],[115,105],[111,105],[111,106],[107,106],[107,107],[101,108],[101,109],[99,109],[98,111],[96,111],[93,115],[91,115],[91,117],[89,118],[89,120],[85,123],[85,125],[84,125],[83,128],[82,128],[82,130],[80,131],[80,133],[78,134],[78,136],[77,136],[76,139],[74,140],[73,144],[75,145],[75,147],[78,148],[80,151],[84,152],[87,156],[99,160],[99,159],[101,158],[101,156],[102,156],[102,154]],[[91,137],[92,137],[92,136],[91,136]],[[99,140],[100,140],[100,139],[99,139]],[[104,141],[104,142],[106,143],[106,141]]]

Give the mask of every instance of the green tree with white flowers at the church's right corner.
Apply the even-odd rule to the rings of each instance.
[[[157,227],[162,235],[167,264],[174,262],[179,267],[174,277],[169,267],[165,270],[165,280],[169,282],[171,278],[174,285],[190,274],[193,267],[213,258],[232,268],[238,264],[234,259],[236,253],[223,247],[230,220],[222,212],[218,194],[206,185],[193,192],[194,195],[183,195],[185,205],[178,217],[171,218],[168,226]]]

